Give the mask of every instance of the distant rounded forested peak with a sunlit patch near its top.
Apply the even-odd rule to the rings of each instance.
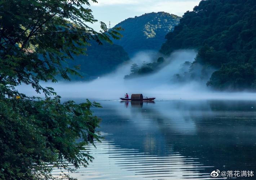
[[[180,17],[177,15],[165,12],[146,13],[128,18],[115,26],[121,26],[124,31],[120,32],[123,35],[122,39],[113,41],[123,46],[130,57],[141,50],[158,51],[165,35],[173,30],[179,20]]]

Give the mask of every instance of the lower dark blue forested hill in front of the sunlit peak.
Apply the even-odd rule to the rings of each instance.
[[[114,71],[121,63],[129,60],[128,54],[122,46],[109,44],[98,45],[91,41],[87,47],[87,55],[74,56],[74,60],[68,60],[68,66],[80,66],[78,72],[83,78],[73,76],[74,80],[92,80],[98,76]]]

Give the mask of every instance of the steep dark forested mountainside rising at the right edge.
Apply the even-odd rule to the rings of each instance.
[[[173,50],[196,48],[199,51],[190,71],[197,64],[202,64],[204,70],[217,69],[208,86],[255,90],[255,37],[255,0],[203,0],[166,35],[160,52],[169,55]]]

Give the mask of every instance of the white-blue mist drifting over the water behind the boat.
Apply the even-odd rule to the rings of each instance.
[[[173,81],[176,74],[184,73],[182,64],[192,63],[197,52],[195,50],[178,50],[165,58],[163,68],[159,71],[132,79],[124,79],[131,73],[133,63],[140,67],[143,63],[155,60],[155,52],[137,53],[129,62],[120,65],[114,72],[96,80],[85,82],[60,81],[57,84],[42,83],[43,86],[53,87],[63,98],[89,98],[101,100],[119,100],[125,93],[142,93],[144,96],[155,97],[156,100],[193,100],[193,99],[256,99],[253,93],[223,93],[211,91],[206,81]],[[198,70],[200,71],[200,70]],[[20,86],[18,90],[29,95],[39,96],[31,87]]]

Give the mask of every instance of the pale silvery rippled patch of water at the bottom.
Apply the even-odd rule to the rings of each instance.
[[[200,170],[211,168],[197,161],[197,158],[181,156],[154,156],[136,149],[124,149],[114,141],[104,140],[88,145],[88,152],[94,157],[87,168],[80,167],[70,173],[77,179],[210,179],[209,173]],[[53,174],[59,174],[54,170]],[[215,178],[216,179],[216,178]],[[217,178],[218,179],[218,178]]]

